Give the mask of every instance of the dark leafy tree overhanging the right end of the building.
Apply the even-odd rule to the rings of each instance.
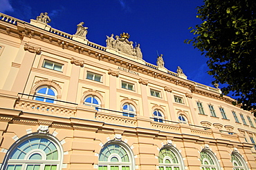
[[[202,23],[189,28],[195,37],[186,40],[208,57],[212,83],[226,84],[246,110],[256,109],[256,1],[204,0],[197,8]]]

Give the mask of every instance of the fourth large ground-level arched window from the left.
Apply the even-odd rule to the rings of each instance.
[[[208,151],[201,151],[200,153],[201,169],[203,170],[219,170],[219,164],[214,154]]]

